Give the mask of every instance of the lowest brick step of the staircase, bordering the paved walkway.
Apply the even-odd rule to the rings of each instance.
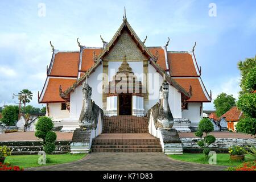
[[[92,152],[162,152],[162,148],[92,148]]]

